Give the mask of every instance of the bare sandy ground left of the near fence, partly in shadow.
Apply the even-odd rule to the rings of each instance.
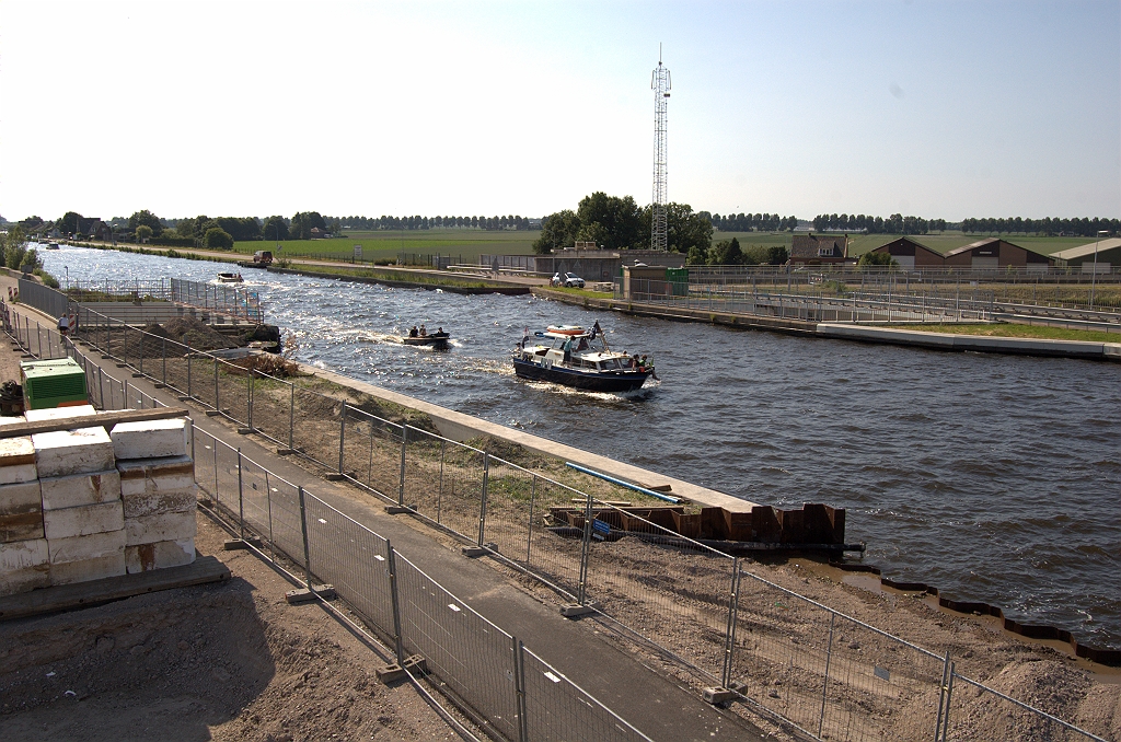
[[[0,623],[2,740],[457,740],[383,658],[198,516],[233,578]]]

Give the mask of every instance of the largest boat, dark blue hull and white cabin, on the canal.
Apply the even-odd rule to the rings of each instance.
[[[530,344],[527,335],[513,353],[513,372],[522,379],[621,392],[640,389],[654,375],[654,368],[640,365],[638,358],[609,349],[600,323],[591,330],[555,325],[535,333],[535,337],[541,341]]]

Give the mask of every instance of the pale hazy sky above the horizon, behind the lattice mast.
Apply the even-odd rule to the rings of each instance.
[[[1121,0],[0,3],[0,215],[1121,216]]]

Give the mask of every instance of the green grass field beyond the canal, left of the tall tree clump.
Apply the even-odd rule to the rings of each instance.
[[[252,254],[256,250],[272,250],[278,258],[349,259],[354,245],[362,245],[362,257],[369,260],[392,260],[406,256],[452,256],[453,262],[478,262],[480,254],[532,254],[538,231],[485,232],[483,230],[405,230],[397,232],[344,232],[332,240],[281,240],[281,250],[269,240],[237,242],[234,252]],[[461,260],[462,258],[462,260]]]

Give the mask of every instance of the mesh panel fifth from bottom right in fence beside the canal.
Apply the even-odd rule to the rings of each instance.
[[[478,448],[408,430],[405,504],[472,541],[479,538],[485,454]]]

